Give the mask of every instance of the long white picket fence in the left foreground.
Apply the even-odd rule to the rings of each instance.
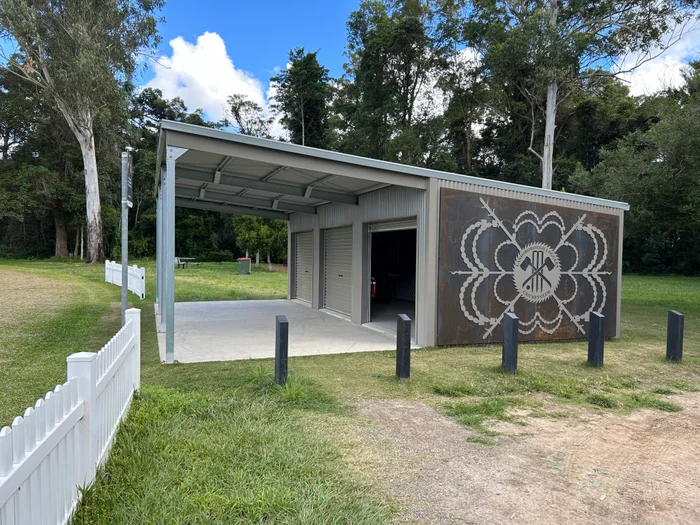
[[[141,311],[99,352],[68,356],[56,385],[0,430],[0,525],[65,525],[141,382]]]

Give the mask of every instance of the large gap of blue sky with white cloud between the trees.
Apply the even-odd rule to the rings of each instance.
[[[190,110],[223,116],[226,97],[241,93],[267,107],[269,79],[284,68],[290,48],[319,50],[334,77],[343,74],[345,23],[360,0],[215,2],[169,0],[162,11],[159,64],[149,64],[141,84]],[[274,89],[274,88],[273,88]]]

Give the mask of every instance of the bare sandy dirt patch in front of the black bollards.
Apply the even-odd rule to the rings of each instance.
[[[410,523],[700,523],[700,394],[679,413],[499,424],[498,446],[416,402],[362,402],[354,461]]]

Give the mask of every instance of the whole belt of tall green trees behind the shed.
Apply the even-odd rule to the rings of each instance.
[[[0,4],[4,36],[18,44],[0,69],[0,257],[77,257],[87,234],[88,258],[99,259],[96,203],[97,238],[114,257],[127,145],[130,250],[153,255],[158,123],[169,119],[624,200],[626,269],[700,273],[700,66],[643,97],[618,78],[692,24],[693,1],[364,0],[347,22],[340,78],[319,51],[290,43],[272,99],[232,91],[219,122],[133,85],[160,6]],[[176,221],[182,256],[286,257],[284,222],[182,209]]]

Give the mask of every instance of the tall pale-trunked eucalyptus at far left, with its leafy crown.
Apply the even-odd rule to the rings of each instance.
[[[159,41],[163,0],[2,0],[0,34],[16,44],[4,66],[41,90],[77,139],[85,172],[87,260],[104,260],[94,125]]]

